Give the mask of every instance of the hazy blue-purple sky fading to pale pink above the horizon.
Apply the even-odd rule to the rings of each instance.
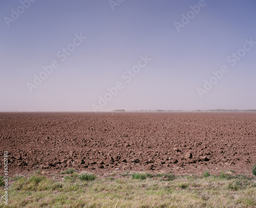
[[[0,111],[256,109],[256,1],[0,2]]]

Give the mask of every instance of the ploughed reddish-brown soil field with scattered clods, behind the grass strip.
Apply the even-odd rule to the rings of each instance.
[[[0,173],[251,174],[256,113],[0,113]]]

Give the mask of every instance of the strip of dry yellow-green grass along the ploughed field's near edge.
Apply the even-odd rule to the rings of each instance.
[[[9,204],[4,206],[0,198],[0,207],[256,207],[256,177],[224,172],[207,177],[136,172],[102,178],[73,172],[59,181],[35,174],[13,180],[8,191]]]

